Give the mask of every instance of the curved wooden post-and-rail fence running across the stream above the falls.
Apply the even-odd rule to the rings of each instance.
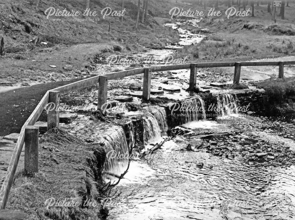
[[[160,67],[147,67],[140,69],[133,69],[121,72],[114,72],[105,75],[99,75],[90,77],[78,82],[73,82],[68,85],[64,85],[53,90],[49,90],[45,93],[39,104],[32,112],[30,117],[22,126],[19,138],[15,145],[4,182],[0,190],[0,209],[5,209],[9,191],[12,186],[14,174],[17,169],[19,157],[22,152],[23,145],[25,143],[25,172],[38,172],[38,139],[39,128],[34,126],[42,111],[48,103],[54,103],[57,108],[48,112],[47,115],[47,130],[59,126],[59,102],[60,96],[68,94],[78,89],[88,87],[90,85],[99,84],[98,89],[98,110],[101,110],[101,106],[106,103],[107,99],[107,85],[108,80],[115,80],[127,76],[133,76],[138,74],[144,74],[143,76],[143,92],[142,97],[145,100],[150,99],[150,87],[152,72],[162,72],[169,70],[182,70],[190,69],[189,88],[193,89],[196,86],[196,72],[197,68],[208,67],[235,67],[233,83],[239,84],[240,72],[242,66],[279,66],[279,78],[284,76],[284,65],[295,65],[295,61],[287,62],[217,62],[217,63],[194,63],[194,64],[181,64],[181,65],[169,65]]]

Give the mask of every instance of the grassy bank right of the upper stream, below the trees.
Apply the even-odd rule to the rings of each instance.
[[[235,5],[234,5],[235,6]],[[227,7],[221,6],[224,21],[199,22],[201,28],[208,29],[207,37],[199,44],[179,49],[176,54],[187,54],[191,61],[229,61],[281,57],[295,54],[295,3],[286,7],[285,20],[278,17],[277,23],[267,13],[267,4],[255,5],[255,16],[225,17]],[[246,9],[250,6],[246,6]],[[238,7],[236,6],[238,10]],[[216,19],[220,17],[210,17]],[[201,31],[198,27],[184,25],[193,33]]]

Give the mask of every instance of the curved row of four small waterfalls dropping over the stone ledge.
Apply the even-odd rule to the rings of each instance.
[[[217,105],[213,106],[212,109],[214,110],[215,114],[218,115],[218,117],[224,117],[226,115],[237,113],[237,98],[235,95],[215,94],[213,97],[215,97],[215,102]],[[205,103],[205,100],[203,100],[200,96],[182,100],[180,102],[173,103],[172,106],[176,107],[170,107],[168,114],[174,114],[178,125],[199,120],[204,121],[206,120],[206,115],[208,113],[207,110],[209,107],[207,106],[208,104],[206,105]],[[144,145],[158,143],[161,137],[166,135],[169,124],[169,119],[167,117],[168,108],[145,108],[144,112],[134,112],[133,114],[130,112],[130,114],[127,114],[128,116],[132,115],[132,117],[134,117],[137,115],[142,118],[141,123],[143,132],[141,135],[143,135],[143,137],[140,139],[143,140]],[[177,111],[173,112],[173,110],[176,110],[176,108]],[[132,141],[135,136],[134,126],[130,127],[129,125],[127,129],[125,127],[125,131],[122,127],[115,126],[114,128],[110,129],[109,132],[110,134],[104,136],[103,140],[108,158],[106,160],[108,162],[105,165],[105,172],[114,173],[119,176],[124,172],[128,164],[129,149],[133,146],[132,143],[134,143]],[[130,143],[127,144],[127,142]],[[125,156],[122,158],[122,156],[119,157],[117,155]]]

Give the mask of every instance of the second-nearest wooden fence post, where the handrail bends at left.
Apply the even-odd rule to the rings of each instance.
[[[53,105],[50,108],[47,115],[47,131],[52,128],[59,126],[59,102],[60,102],[60,92],[59,91],[49,91],[49,103]]]

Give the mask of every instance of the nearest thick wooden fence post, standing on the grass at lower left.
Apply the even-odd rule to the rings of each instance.
[[[38,172],[39,127],[27,126],[24,132],[24,172]]]

